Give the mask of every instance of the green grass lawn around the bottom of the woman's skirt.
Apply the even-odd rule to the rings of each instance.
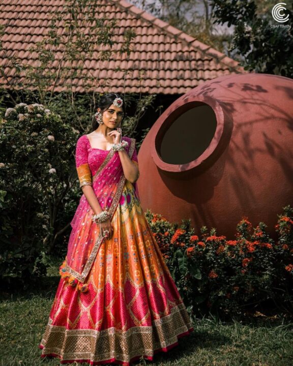
[[[40,288],[0,299],[0,366],[58,365],[58,359],[41,359],[38,345],[45,330],[59,277],[49,271]],[[293,324],[284,319],[223,323],[197,319],[189,337],[179,346],[136,365],[165,366],[293,366]],[[75,363],[76,364],[76,363]],[[79,363],[79,365],[81,365]],[[82,365],[86,365],[83,363]]]

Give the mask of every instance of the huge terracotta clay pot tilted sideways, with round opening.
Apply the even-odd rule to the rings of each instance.
[[[156,121],[138,161],[144,210],[228,239],[247,216],[275,238],[277,214],[293,204],[293,80],[238,74],[197,86]]]

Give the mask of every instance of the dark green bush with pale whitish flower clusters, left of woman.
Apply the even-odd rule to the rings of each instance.
[[[0,276],[31,277],[45,272],[43,256],[67,224],[58,209],[64,214],[76,179],[79,132],[40,104],[1,113]]]

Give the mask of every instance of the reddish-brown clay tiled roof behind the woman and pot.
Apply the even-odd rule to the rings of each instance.
[[[0,24],[6,28],[2,37],[0,65],[4,67],[8,80],[13,81],[14,71],[7,57],[15,55],[25,64],[36,65],[37,55],[29,49],[42,40],[49,30],[52,12],[62,11],[64,4],[65,0],[1,0]],[[225,54],[124,0],[101,0],[97,17],[118,21],[113,29],[117,41],[114,50],[121,48],[125,31],[134,29],[136,34],[128,56],[113,52],[107,61],[101,62],[97,49],[91,58],[85,60],[83,71],[102,84],[105,81],[99,92],[184,94],[203,81],[245,72]],[[62,32],[62,21],[56,24],[58,32]],[[55,58],[60,54],[56,49]],[[56,60],[50,67],[53,69],[57,63]],[[29,80],[23,82],[29,86]],[[66,82],[72,82],[76,92],[84,90],[82,77],[60,80],[56,90],[64,89]],[[1,75],[0,84],[7,85]],[[93,88],[95,85],[97,82],[93,82]]]

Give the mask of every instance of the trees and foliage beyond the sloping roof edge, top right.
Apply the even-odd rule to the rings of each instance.
[[[274,0],[132,0],[132,3],[256,73],[293,75],[293,4],[284,14],[290,27],[272,17]]]

